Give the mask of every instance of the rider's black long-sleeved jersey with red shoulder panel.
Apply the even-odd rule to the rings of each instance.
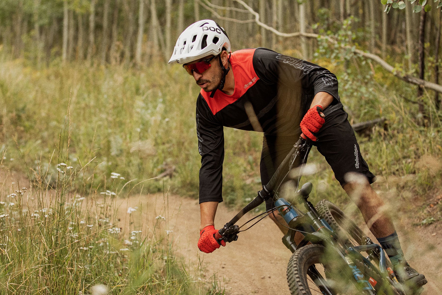
[[[301,133],[299,123],[316,93],[328,92],[335,98],[325,113],[342,107],[336,76],[319,65],[265,48],[235,51],[230,64],[233,94],[217,90],[210,97],[201,90],[196,103],[200,203],[222,202],[224,126],[254,130],[250,120],[257,119],[256,131],[295,136]]]

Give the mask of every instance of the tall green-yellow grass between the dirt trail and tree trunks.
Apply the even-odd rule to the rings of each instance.
[[[314,62],[335,73],[339,95],[351,123],[384,117],[368,135],[358,135],[362,155],[377,176],[376,190],[400,211],[419,213],[416,222],[440,216],[442,180],[441,113],[425,92],[425,115],[419,114],[415,86],[397,80],[366,61],[351,58],[345,66],[330,58]],[[194,119],[199,88],[179,66],[156,64],[134,69],[54,63],[36,69],[20,59],[0,58],[2,169],[53,185],[59,132],[69,111],[69,155],[61,159],[81,174],[95,165],[84,184],[97,190],[110,182],[147,181],[133,192],[161,192],[164,185],[180,195],[198,195],[198,154]],[[240,206],[260,188],[262,134],[225,128],[223,197]],[[347,203],[339,183],[314,149],[309,162],[316,173],[302,181],[314,185],[312,198]],[[25,168],[26,167],[26,168]],[[38,168],[40,167],[40,168]],[[118,171],[126,180],[110,179]],[[438,198],[439,196],[439,198]],[[397,205],[396,205],[397,206]],[[417,210],[416,210],[417,208]]]

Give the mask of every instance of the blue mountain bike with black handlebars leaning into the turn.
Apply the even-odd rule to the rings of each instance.
[[[251,226],[278,211],[288,228],[282,242],[293,253],[287,266],[287,282],[292,295],[410,295],[392,271],[380,245],[365,236],[362,230],[333,203],[322,200],[316,207],[309,201],[312,184],[299,188],[302,169],[312,145],[302,137],[279,165],[268,184],[248,205],[222,227],[215,238],[221,242],[238,239],[241,228],[261,217]],[[297,177],[290,171],[298,166]],[[297,182],[296,196],[283,198],[280,188],[287,181]],[[274,207],[246,222],[235,223],[259,204],[273,198]],[[299,206],[302,204],[305,210]],[[278,220],[275,218],[275,220]],[[248,230],[251,226],[249,226]]]

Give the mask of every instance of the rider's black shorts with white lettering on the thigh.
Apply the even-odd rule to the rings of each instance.
[[[347,118],[348,114],[342,108],[326,115],[324,125],[315,134],[318,140],[313,142],[313,145],[325,157],[341,186],[346,184],[344,175],[347,172],[362,174],[371,184],[376,180],[376,177],[370,172],[366,161],[362,158],[354,130]],[[290,152],[298,138],[299,135],[289,137],[264,134],[260,162],[262,184],[269,182],[274,171]],[[272,199],[267,200],[266,210],[272,207],[274,207]]]

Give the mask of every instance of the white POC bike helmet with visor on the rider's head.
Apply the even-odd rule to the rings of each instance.
[[[210,54],[218,55],[222,48],[231,52],[229,37],[224,29],[211,19],[191,24],[179,35],[169,64],[186,64]]]

